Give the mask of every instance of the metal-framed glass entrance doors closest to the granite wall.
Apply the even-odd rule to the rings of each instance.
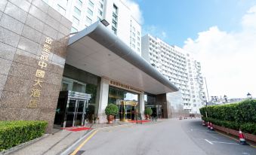
[[[79,99],[69,99],[66,105],[66,116],[63,127],[83,126],[85,124],[85,109],[87,102]]]

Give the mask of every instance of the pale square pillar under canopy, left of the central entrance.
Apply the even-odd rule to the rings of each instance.
[[[100,81],[100,99],[98,108],[99,123],[106,123],[105,108],[109,99],[109,80],[101,78]]]

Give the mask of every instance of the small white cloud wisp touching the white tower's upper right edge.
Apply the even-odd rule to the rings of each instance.
[[[138,23],[143,24],[143,16],[142,11],[140,11],[140,6],[132,0],[122,0],[122,2],[125,2],[125,4],[128,5],[135,20],[137,20]]]

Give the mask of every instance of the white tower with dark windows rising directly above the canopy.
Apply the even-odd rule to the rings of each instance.
[[[106,20],[107,26],[137,54],[141,54],[141,26],[123,0],[43,0],[72,21],[71,32],[78,32]]]

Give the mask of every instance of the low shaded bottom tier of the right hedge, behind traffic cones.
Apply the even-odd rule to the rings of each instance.
[[[242,132],[256,135],[256,123],[237,123],[227,120],[217,120],[211,117],[202,117],[202,120],[205,120],[205,122],[209,121],[211,123],[216,124],[217,126],[224,126],[229,129],[241,129]]]

